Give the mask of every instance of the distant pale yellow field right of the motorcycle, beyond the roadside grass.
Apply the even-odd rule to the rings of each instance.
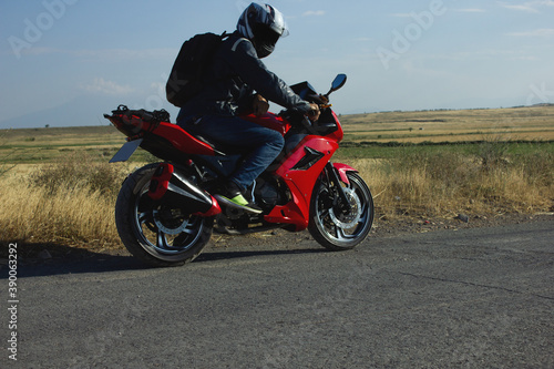
[[[341,117],[351,142],[553,141],[554,105],[386,112]]]

